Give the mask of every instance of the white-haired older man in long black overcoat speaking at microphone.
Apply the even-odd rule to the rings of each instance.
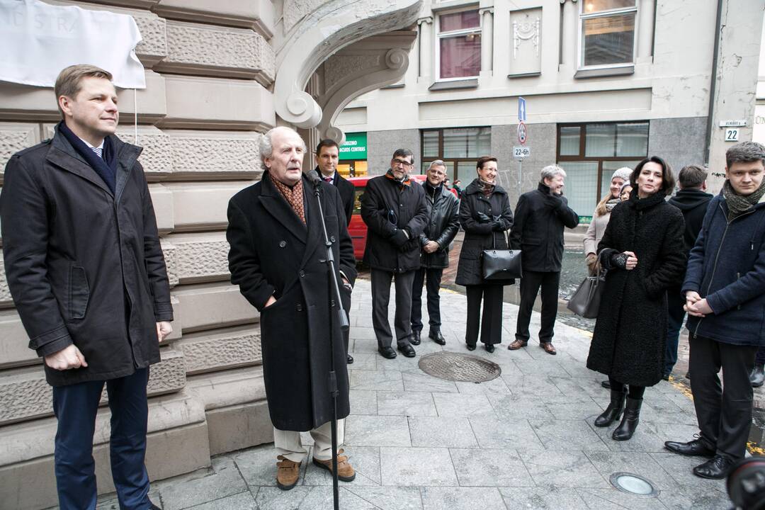
[[[280,489],[288,490],[298,482],[307,453],[301,430],[311,430],[314,464],[332,469],[330,356],[337,375],[338,418],[349,412],[348,373],[337,313],[328,300],[320,199],[301,171],[304,141],[292,129],[279,127],[263,135],[259,145],[262,180],[229,201],[226,239],[231,246],[231,282],[260,312],[263,379],[278,460],[276,481]],[[340,292],[350,299],[356,261],[340,193],[323,181],[316,186],[327,236],[333,242]],[[343,443],[341,419],[337,443]],[[347,456],[337,456],[337,475],[343,482],[355,477]]]

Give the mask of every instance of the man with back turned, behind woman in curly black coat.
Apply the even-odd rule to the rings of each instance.
[[[696,243],[698,231],[702,229],[704,215],[707,212],[709,200],[712,200],[710,193],[705,193],[707,189],[707,171],[702,167],[688,165],[682,167],[678,174],[679,190],[675,196],[669,199],[669,203],[682,211],[685,219],[685,232],[683,233],[683,246],[685,249],[685,258],[691,252]],[[665,380],[669,379],[672,367],[677,362],[677,343],[680,336],[682,320],[685,318],[685,296],[682,295],[680,287],[672,287],[667,291],[667,311],[669,326],[667,329],[667,346],[664,355],[664,374]]]

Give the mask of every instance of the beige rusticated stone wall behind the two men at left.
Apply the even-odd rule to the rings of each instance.
[[[259,179],[263,132],[293,125],[309,141],[320,132],[342,138],[331,122],[347,102],[400,79],[421,2],[48,3],[132,15],[143,37],[136,53],[147,87],[135,97],[119,91],[118,135],[144,148],[140,161],[175,310],[174,333],[161,347],[161,363],[151,367],[151,478],[210,466],[217,453],[271,441],[258,314],[229,284],[226,205]],[[11,154],[49,138],[58,120],[52,89],[0,83],[0,169]],[[51,391],[27,343],[0,269],[2,508],[57,501]],[[99,492],[113,490],[108,440],[103,407],[93,453]]]

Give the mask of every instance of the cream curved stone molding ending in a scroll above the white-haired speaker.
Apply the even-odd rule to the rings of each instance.
[[[277,49],[274,84],[276,113],[300,128],[314,128],[322,119],[321,106],[304,92],[308,80],[321,63],[362,38],[414,24],[422,0],[359,0],[350,4],[344,0],[332,0],[317,4],[311,0],[285,2],[283,28],[286,33],[281,47]],[[310,13],[304,14],[308,10],[311,10]],[[298,17],[301,19],[295,21]],[[390,60],[393,67],[398,65],[396,61],[402,60],[403,70],[409,63],[408,57],[398,53],[392,54]],[[380,85],[377,83],[376,86]]]

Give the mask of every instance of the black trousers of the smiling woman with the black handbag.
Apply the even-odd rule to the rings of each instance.
[[[467,288],[465,343],[474,346],[478,341],[481,300],[483,300],[483,317],[480,317],[480,341],[487,345],[502,343],[503,286],[484,284],[466,285],[465,288]]]

